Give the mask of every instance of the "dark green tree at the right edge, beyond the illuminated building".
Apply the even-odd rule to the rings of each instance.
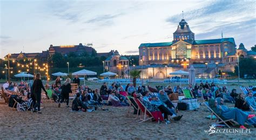
[[[256,60],[253,58],[239,58],[239,70],[240,77],[244,78],[244,75],[253,76],[256,79]],[[235,66],[235,73],[238,75],[238,66]]]

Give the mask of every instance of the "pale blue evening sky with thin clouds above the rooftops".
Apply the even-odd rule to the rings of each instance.
[[[256,1],[2,1],[0,57],[50,44],[92,43],[97,52],[138,54],[141,43],[173,40],[184,18],[196,40],[233,37],[256,44]]]

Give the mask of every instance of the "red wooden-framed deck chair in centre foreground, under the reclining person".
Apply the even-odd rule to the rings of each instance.
[[[152,113],[144,106],[144,104],[139,100],[139,99],[134,99],[134,101],[137,103],[139,109],[138,109],[138,113],[139,113],[139,110],[141,110],[141,113],[140,113],[140,120],[142,120],[141,122],[139,123],[142,123],[142,122],[146,122],[148,120],[151,120],[153,117]],[[160,112],[160,111],[159,111]],[[138,116],[138,113],[137,113],[137,116]],[[142,115],[144,114],[144,117],[142,118]],[[162,115],[159,116],[160,120],[163,121],[164,118]],[[156,121],[158,121],[158,118],[154,118]]]

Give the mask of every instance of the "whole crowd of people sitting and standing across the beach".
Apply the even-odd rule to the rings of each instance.
[[[225,119],[233,118],[245,129],[244,124],[251,125],[256,124],[254,119],[255,115],[248,114],[245,111],[254,111],[256,109],[254,94],[250,90],[246,95],[244,93],[237,93],[236,89],[230,90],[226,86],[218,86],[213,82],[211,85],[206,82],[196,83],[195,86],[188,85],[188,87],[163,87],[163,86],[138,86],[134,87],[132,83],[122,86],[119,82],[113,82],[111,86],[107,86],[104,82],[100,88],[92,89],[89,86],[80,85],[78,75],[72,81],[67,78],[62,84],[58,77],[51,86],[46,83],[43,86],[41,81],[41,75],[36,74],[36,78],[33,81],[31,87],[26,82],[17,83],[6,82],[3,85],[4,90],[10,90],[21,95],[26,95],[26,101],[22,102],[22,110],[31,109],[33,112],[42,113],[40,111],[41,106],[41,93],[42,89],[47,95],[48,89],[52,90],[52,98],[58,107],[63,102],[66,103],[66,107],[69,107],[69,99],[71,90],[71,83],[78,85],[75,99],[72,100],[72,111],[88,111],[91,112],[97,109],[103,109],[103,106],[123,107],[130,106],[132,104],[134,111],[133,114],[140,114],[138,111],[138,104],[135,100],[139,100],[143,103],[149,111],[160,111],[164,114],[164,120],[169,123],[169,119],[179,121],[183,115],[177,114],[177,108],[172,101],[179,100],[179,96],[184,96],[183,90],[189,89],[191,96],[194,99],[201,99],[208,101],[209,106],[216,111],[221,117]],[[146,89],[147,88],[147,89]],[[234,108],[228,108],[224,105],[226,103],[233,103]],[[31,104],[31,105],[30,105]]]

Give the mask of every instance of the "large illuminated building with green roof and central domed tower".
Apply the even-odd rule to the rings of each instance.
[[[235,51],[234,38],[195,40],[187,22],[181,19],[173,40],[165,43],[143,43],[139,46],[140,65],[180,64],[192,62],[225,62],[225,56]]]

